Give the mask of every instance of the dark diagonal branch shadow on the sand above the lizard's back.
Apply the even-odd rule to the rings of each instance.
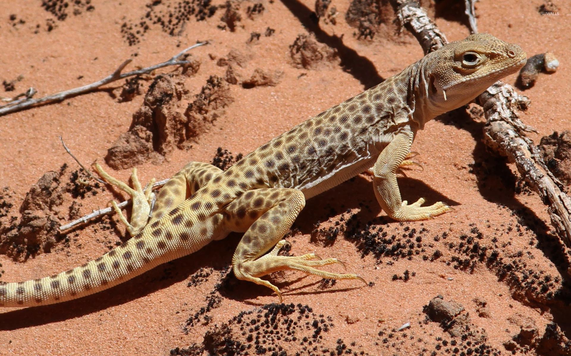
[[[298,0],[282,0],[284,6],[301,22],[309,32],[315,34],[317,41],[337,50],[341,59],[341,68],[364,85],[365,89],[374,87],[383,81],[375,64],[368,58],[361,56],[353,48],[343,43],[343,35],[329,35],[319,26],[319,22],[313,11]]]

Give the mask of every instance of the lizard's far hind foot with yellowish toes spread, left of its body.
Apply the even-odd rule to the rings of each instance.
[[[127,230],[131,236],[136,235],[148,222],[148,218],[151,213],[152,200],[155,194],[152,193],[152,185],[155,182],[155,178],[151,179],[145,190],[142,189],[139,178],[137,177],[137,169],[134,168],[131,174],[131,182],[133,187],[131,188],[127,183],[121,182],[118,179],[111,177],[99,163],[94,164],[94,168],[99,173],[101,178],[105,179],[111,185],[118,187],[132,198],[132,212],[131,212],[131,223],[127,222],[127,219],[121,212],[117,202],[111,200],[111,204],[118,214],[119,219],[127,226]]]

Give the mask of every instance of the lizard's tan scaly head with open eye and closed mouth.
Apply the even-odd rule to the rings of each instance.
[[[424,114],[432,118],[469,103],[525,62],[520,46],[489,34],[469,35],[441,47],[419,61],[417,95]]]

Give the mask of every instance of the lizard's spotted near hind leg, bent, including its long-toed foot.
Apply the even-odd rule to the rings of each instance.
[[[286,244],[286,241],[281,239],[304,205],[305,198],[300,190],[272,188],[248,191],[227,207],[230,216],[235,215],[242,219],[243,224],[251,224],[232,257],[234,274],[238,279],[252,281],[274,290],[280,302],[282,293],[278,287],[260,277],[271,272],[294,270],[321,278],[357,279],[364,282],[357,275],[331,273],[316,268],[329,264],[343,265],[335,258],[321,260],[315,253],[278,256],[279,249]],[[265,254],[272,247],[274,248],[270,253]]]

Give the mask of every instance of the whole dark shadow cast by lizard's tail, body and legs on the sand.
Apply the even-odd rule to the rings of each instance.
[[[443,197],[443,195],[416,179],[400,178],[399,186],[406,192],[404,195],[410,200],[422,196],[427,197],[428,203],[436,200],[444,200],[451,205],[458,204],[447,197]],[[329,190],[329,192],[331,194],[320,194],[308,200],[307,206],[296,220],[296,227],[299,228],[301,232],[311,232],[313,225],[319,221],[319,219],[327,220],[327,216],[331,215],[332,211],[342,212],[347,209],[359,208],[359,211],[356,212],[357,218],[363,221],[375,218],[375,216],[381,212],[372,190],[371,181],[363,176],[349,179],[349,181],[334,187]],[[393,223],[398,222],[394,221]],[[154,293],[157,290],[168,288],[173,284],[186,280],[188,276],[202,267],[223,269],[229,261],[231,261],[234,249],[241,236],[242,234],[230,234],[224,240],[208,244],[200,253],[170,261],[125,283],[90,296],[58,304],[11,310],[1,313],[0,330],[16,330],[84,316],[110,308],[111,306],[125,304],[126,302],[144,297],[147,294]],[[213,258],[213,256],[216,257]],[[307,276],[301,276],[297,280],[304,279],[305,277]],[[260,295],[270,295],[272,293],[271,290],[266,287],[236,279],[234,273],[231,273],[230,279],[231,287],[220,289],[220,294],[229,299],[239,301],[254,300]],[[270,279],[272,278],[270,277]],[[294,280],[294,282],[297,280]],[[320,281],[321,280],[317,280],[315,283],[310,283],[309,285],[320,283]],[[276,281],[279,287],[285,287],[291,283],[291,280],[278,279],[278,281]],[[247,288],[240,288],[242,285],[244,287],[247,285]],[[303,289],[305,287],[307,286],[304,285],[303,287],[288,290],[285,295],[333,293],[339,290],[361,288],[359,286],[342,289],[304,291]],[[300,290],[299,292],[292,293],[298,289]]]

